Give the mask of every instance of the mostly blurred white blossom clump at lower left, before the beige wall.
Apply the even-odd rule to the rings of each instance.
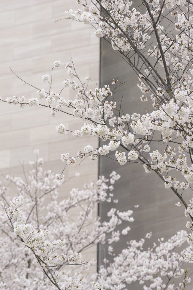
[[[119,240],[115,238],[114,230],[121,224],[122,218],[116,215],[116,209],[105,222],[101,222],[99,217],[93,217],[93,211],[97,203],[108,199],[108,190],[113,189],[113,184],[120,175],[113,172],[110,180],[101,176],[96,184],[85,184],[84,190],[74,188],[67,199],[59,201],[60,187],[67,180],[64,175],[55,175],[51,170],[43,172],[43,159],[38,158],[37,150],[34,153],[37,160],[29,163],[31,171],[28,179],[24,181],[7,175],[7,186],[2,187],[0,230],[6,236],[0,238],[0,255],[3,259],[7,253],[7,258],[3,259],[4,264],[1,263],[1,277],[5,283],[1,286],[12,285],[14,290],[26,287],[56,289],[50,288],[51,279],[56,287],[61,284],[67,288],[73,284],[76,289],[81,272],[93,264],[93,261],[89,261],[90,264],[84,265],[81,252],[99,242],[105,243],[106,233],[112,234],[109,243]],[[10,184],[15,185],[18,191],[14,198],[8,195]],[[45,197],[50,200],[46,210]],[[69,212],[73,208],[76,208],[77,220],[72,222]],[[68,264],[82,266],[75,281],[73,274],[63,269]],[[14,277],[13,267],[18,269],[14,270]],[[44,274],[49,278],[46,281]],[[84,285],[86,282],[83,281],[81,283]],[[30,288],[29,285],[33,287]]]

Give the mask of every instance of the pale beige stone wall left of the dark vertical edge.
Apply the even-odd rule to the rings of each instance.
[[[10,70],[23,80],[42,89],[49,85],[41,80],[42,74],[51,76],[55,60],[62,68],[53,71],[53,87],[56,93],[67,78],[64,65],[71,57],[80,77],[90,76],[94,85],[99,81],[99,40],[90,26],[65,19],[65,10],[77,10],[75,0],[1,0],[0,1],[0,95],[2,98],[16,95],[27,99],[37,97],[36,89],[24,84]],[[73,91],[63,90],[65,98],[73,98]],[[79,120],[63,113],[50,116],[50,109],[43,107],[20,109],[19,106],[0,103],[0,170],[6,175],[22,176],[20,162],[28,164],[34,160],[35,149],[45,160],[45,168],[61,173],[64,163],[61,153],[71,156],[86,144],[97,147],[96,139],[73,138],[71,133],[60,135],[56,125],[63,123],[68,130],[77,128]],[[79,125],[80,127],[80,125]],[[28,169],[28,166],[27,166]],[[82,186],[84,182],[97,179],[98,164],[85,160],[73,168],[66,168],[70,177],[80,172],[80,178],[73,179],[65,188]],[[96,257],[96,249],[90,250]],[[86,260],[86,259],[85,259]]]

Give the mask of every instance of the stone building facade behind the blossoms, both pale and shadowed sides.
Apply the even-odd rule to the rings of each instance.
[[[1,96],[36,97],[37,90],[33,85],[46,89],[41,76],[45,73],[50,75],[55,60],[60,60],[62,67],[53,71],[52,90],[61,90],[62,81],[67,78],[64,65],[72,58],[80,78],[91,77],[89,86],[92,88],[99,81],[101,87],[110,84],[113,79],[126,81],[117,91],[116,101],[120,103],[123,95],[122,106],[126,113],[141,112],[137,76],[104,40],[100,45],[90,26],[61,19],[68,9],[77,9],[75,1],[1,0]],[[32,86],[16,77],[10,67],[18,77]],[[71,99],[72,94],[72,90],[65,89],[65,98]],[[52,117],[50,110],[45,108],[20,109],[19,106],[1,102],[0,123],[0,170],[4,175],[22,176],[20,163],[25,162],[28,170],[28,162],[34,159],[35,149],[39,149],[40,157],[44,158],[46,169],[60,173],[63,170],[61,153],[70,152],[74,156],[85,144],[98,147],[97,138],[82,138],[76,142],[72,134],[58,134],[56,125],[63,123],[68,130],[73,131],[79,120],[62,113]],[[185,229],[186,218],[182,218],[183,208],[175,206],[178,201],[175,195],[164,189],[158,176],[153,173],[147,175],[140,164],[127,163],[121,167],[118,162],[105,156],[99,158],[99,164],[86,159],[79,168],[65,169],[66,177],[72,176],[77,170],[81,173],[79,179],[67,184],[66,194],[74,186],[81,187],[85,182],[96,181],[98,174],[108,176],[112,168],[121,175],[114,190],[114,196],[119,200],[118,208],[122,211],[134,210],[135,218],[129,234],[117,244],[117,253],[126,247],[127,240],[140,239],[147,232],[153,232],[153,240],[148,244],[151,245],[159,237],[169,238],[176,231]],[[134,209],[136,204],[139,204],[139,208]],[[99,205],[102,219],[105,219],[107,211],[108,204]],[[105,249],[105,246],[99,247],[99,264],[107,257]],[[91,256],[96,258],[97,249],[90,250],[86,255],[85,259]]]

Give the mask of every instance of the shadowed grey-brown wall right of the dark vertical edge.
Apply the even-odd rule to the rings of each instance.
[[[121,116],[123,115],[122,113],[124,115],[126,113],[132,115],[134,112],[144,113],[144,103],[140,101],[142,93],[137,87],[139,82],[137,75],[104,39],[101,42],[100,77],[100,87],[110,85],[113,79],[118,79],[122,83],[126,82],[116,90],[114,98],[114,101],[117,102],[117,108],[121,104]],[[152,110],[151,103],[148,104],[146,102],[145,107],[147,111],[148,107]],[[100,146],[104,144],[100,140]],[[115,152],[111,151],[108,156],[115,159]],[[127,247],[127,241],[145,238],[146,233],[150,231],[152,231],[153,235],[147,241],[146,247],[151,247],[153,242],[156,242],[160,237],[164,237],[164,240],[166,240],[177,231],[187,229],[187,218],[184,216],[183,207],[175,206],[178,199],[171,190],[164,188],[163,181],[156,173],[145,173],[142,164],[127,162],[121,166],[117,161],[107,156],[100,156],[99,175],[105,175],[108,178],[113,170],[121,175],[121,178],[116,181],[113,191],[113,199],[118,199],[118,203],[100,204],[99,215],[102,219],[105,219],[107,211],[115,207],[120,211],[132,209],[134,211],[133,217],[135,218],[133,223],[122,222],[120,225],[120,231],[127,225],[131,227],[131,231],[126,236],[121,235],[120,241],[114,246],[115,254],[120,253],[123,248]],[[188,190],[184,192],[184,195],[186,198],[188,196],[191,197]],[[138,208],[134,207],[136,204],[139,204]],[[99,265],[103,264],[104,258],[111,260],[107,253],[107,247],[108,244],[99,246]]]

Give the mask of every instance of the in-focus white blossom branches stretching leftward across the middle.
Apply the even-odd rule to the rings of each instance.
[[[59,93],[51,92],[48,94],[44,89],[37,91],[38,97],[45,98],[49,104],[48,107],[52,102],[57,102],[56,107],[50,109],[51,115],[54,116],[59,111],[63,112],[66,106],[68,109],[72,109],[72,116],[79,117],[84,121],[83,126],[72,133],[76,139],[83,136],[97,136],[105,142],[105,145],[99,148],[86,145],[84,149],[77,152],[77,156],[72,157],[69,157],[69,153],[63,153],[61,155],[63,162],[66,162],[68,166],[75,166],[77,159],[89,156],[94,161],[98,155],[107,155],[110,151],[116,151],[115,157],[121,165],[138,160],[143,164],[147,173],[153,170],[161,175],[165,188],[174,188],[175,190],[189,188],[189,184],[193,182],[193,167],[188,164],[189,157],[192,160],[193,150],[193,103],[190,88],[192,81],[189,75],[183,74],[180,82],[175,84],[174,98],[170,98],[166,103],[159,103],[156,110],[145,114],[133,113],[129,115],[126,113],[117,117],[116,102],[113,101],[112,95],[117,89],[118,81],[116,81],[113,90],[110,90],[110,87],[106,85],[102,89],[86,90],[88,83],[85,86],[80,81],[74,64],[67,63],[65,68],[69,76],[77,78],[79,82],[77,84],[74,80],[70,81],[69,79],[63,82],[63,87],[69,86],[75,91],[75,99],[67,100]],[[187,77],[188,82],[186,81]],[[158,95],[161,95],[160,88],[157,88],[157,92]],[[85,99],[87,102],[84,101]],[[158,100],[155,96],[151,96],[151,99]],[[15,96],[7,98],[6,101],[9,104],[20,103],[21,106],[39,104],[39,100],[36,98],[26,102],[24,97],[16,98]],[[158,105],[158,103],[156,104]],[[65,125],[61,123],[56,126],[56,131],[60,134],[66,134],[67,130]],[[161,135],[160,142],[163,144],[161,151],[151,149],[151,144],[156,142],[156,139],[152,137],[155,131]],[[165,146],[165,143],[168,145]],[[178,144],[177,148],[176,144]],[[176,156],[177,151],[179,154]],[[187,155],[187,151],[191,154]],[[180,171],[183,179],[179,180],[168,175],[170,170]],[[167,174],[162,175],[164,172]]]

